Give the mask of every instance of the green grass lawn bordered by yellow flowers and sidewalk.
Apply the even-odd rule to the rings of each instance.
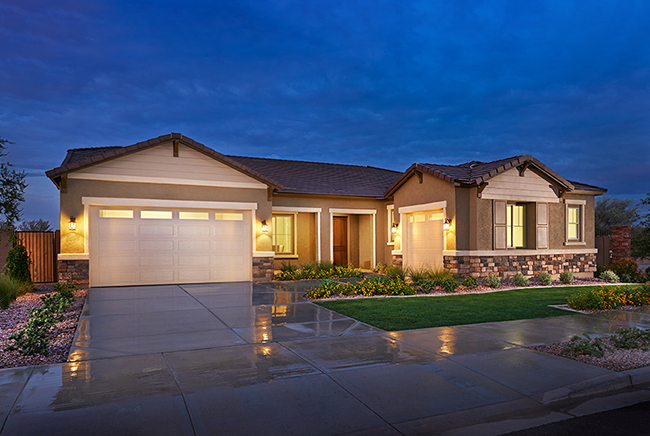
[[[410,330],[571,315],[549,304],[598,286],[544,287],[444,297],[364,298],[317,304],[383,330]]]

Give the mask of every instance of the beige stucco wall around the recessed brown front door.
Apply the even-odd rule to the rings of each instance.
[[[339,197],[339,196],[316,196],[316,195],[300,195],[300,194],[275,194],[273,196],[273,206],[281,207],[313,207],[320,208],[321,211],[321,260],[331,260],[330,259],[330,209],[369,209],[376,211],[376,228],[375,228],[375,238],[376,238],[376,256],[377,263],[388,264],[391,261],[391,250],[392,245],[388,245],[388,210],[386,206],[390,204],[390,201],[379,200],[374,198],[363,198],[363,197]],[[281,212],[280,212],[281,213]],[[314,214],[315,215],[315,214]],[[353,262],[355,265],[359,266],[361,261],[364,267],[366,262],[364,261],[365,256],[367,256],[369,250],[372,249],[372,231],[368,230],[371,228],[371,217],[372,215],[357,215],[357,214],[337,214],[337,215],[348,215],[350,216],[350,260],[354,259]],[[300,229],[298,230],[299,237]],[[300,241],[298,241],[300,244]],[[314,233],[310,244],[316,246],[316,234]],[[361,256],[361,257],[360,257]],[[299,261],[302,257],[299,256]],[[312,259],[315,260],[315,259]],[[308,260],[308,261],[312,261]],[[294,261],[292,261],[294,263]]]

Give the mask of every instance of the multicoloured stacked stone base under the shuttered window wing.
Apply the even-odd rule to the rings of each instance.
[[[536,276],[547,272],[554,276],[571,271],[577,276],[590,276],[596,271],[595,254],[541,254],[534,256],[444,256],[445,268],[460,276],[501,278],[517,273]]]

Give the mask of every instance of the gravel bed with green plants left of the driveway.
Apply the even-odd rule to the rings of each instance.
[[[9,339],[9,336],[20,330],[22,325],[27,322],[31,309],[43,305],[41,296],[52,292],[52,286],[38,286],[37,289],[39,290],[36,292],[18,297],[7,309],[0,310],[0,368],[45,365],[68,360],[70,346],[88,289],[73,291],[75,301],[63,315],[61,322],[57,323],[50,332],[49,356],[40,354],[24,356],[20,351],[5,351],[5,348],[14,342]]]

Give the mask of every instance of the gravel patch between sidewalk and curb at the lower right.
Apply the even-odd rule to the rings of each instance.
[[[605,337],[603,338],[603,343],[610,347],[611,351],[605,350],[605,355],[600,358],[585,354],[562,354],[562,350],[568,342],[559,342],[550,345],[536,345],[529,348],[588,363],[590,365],[599,366],[612,371],[627,371],[629,369],[642,368],[650,365],[650,350],[643,351],[640,349],[626,350],[615,348],[609,339]]]

